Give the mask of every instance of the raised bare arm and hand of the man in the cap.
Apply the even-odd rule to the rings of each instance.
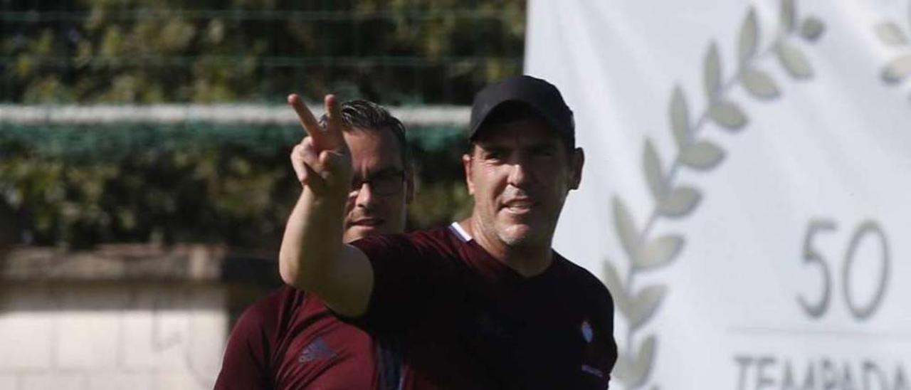
[[[308,137],[292,151],[292,165],[303,190],[281,240],[281,279],[319,295],[338,313],[359,316],[366,311],[373,290],[374,270],[362,251],[342,242],[352,178],[342,117],[331,95],[325,98],[329,114],[325,129],[300,97],[291,95],[288,103]]]

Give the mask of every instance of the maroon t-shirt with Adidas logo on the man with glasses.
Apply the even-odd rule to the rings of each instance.
[[[333,316],[315,295],[285,286],[234,325],[216,389],[396,389],[399,354]]]

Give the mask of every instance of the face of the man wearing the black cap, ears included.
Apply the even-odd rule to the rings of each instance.
[[[462,157],[472,218],[487,240],[509,247],[550,244],[560,210],[578,188],[583,155],[571,152],[546,122],[527,118],[486,128]]]

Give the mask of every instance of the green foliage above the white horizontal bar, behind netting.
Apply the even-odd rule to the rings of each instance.
[[[522,0],[4,2],[5,101],[467,104],[521,71]]]

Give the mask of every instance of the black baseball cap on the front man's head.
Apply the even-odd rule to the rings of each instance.
[[[471,106],[468,139],[474,140],[478,130],[500,108],[525,106],[548,122],[551,128],[575,146],[576,123],[557,87],[537,77],[509,77],[481,89]]]

